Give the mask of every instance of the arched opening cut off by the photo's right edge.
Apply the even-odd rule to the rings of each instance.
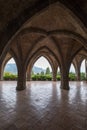
[[[81,76],[81,80],[87,79],[87,60],[86,59],[84,59],[81,63],[80,76]]]

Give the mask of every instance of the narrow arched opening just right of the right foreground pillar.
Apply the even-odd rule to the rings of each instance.
[[[76,80],[76,70],[73,63],[71,64],[70,69],[69,69],[69,80],[70,81]]]

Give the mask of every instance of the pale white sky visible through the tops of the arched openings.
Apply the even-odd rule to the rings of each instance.
[[[8,63],[15,63],[14,59],[11,58],[11,60],[9,60]],[[34,64],[34,66],[46,69],[47,67],[50,68],[50,71],[52,71],[51,66],[49,64],[49,62],[46,60],[46,58],[44,58],[43,56],[41,56]],[[70,68],[70,72],[75,72],[74,66],[73,64],[71,64],[71,68]],[[85,60],[82,62],[81,64],[81,72],[85,72]]]

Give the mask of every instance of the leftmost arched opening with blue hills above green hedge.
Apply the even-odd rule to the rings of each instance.
[[[3,67],[3,79],[4,80],[17,80],[18,70],[16,62],[13,58],[4,63]]]

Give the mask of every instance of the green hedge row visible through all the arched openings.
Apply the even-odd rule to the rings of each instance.
[[[3,76],[4,80],[17,80],[17,75],[11,74],[9,72],[5,72]],[[51,81],[52,80],[52,74],[44,74],[44,72],[41,72],[41,74],[32,74],[31,75],[32,80],[40,80],[40,81]],[[59,81],[61,80],[61,75],[57,74],[56,79]],[[75,81],[76,80],[76,74],[75,73],[69,73],[69,80]],[[81,80],[86,80],[85,73],[81,73]]]

